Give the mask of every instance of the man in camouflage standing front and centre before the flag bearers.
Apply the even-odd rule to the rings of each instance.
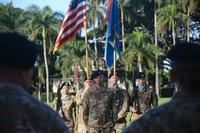
[[[95,85],[89,89],[83,98],[83,118],[89,133],[110,133],[111,97],[108,88],[103,85],[101,71],[93,73]]]

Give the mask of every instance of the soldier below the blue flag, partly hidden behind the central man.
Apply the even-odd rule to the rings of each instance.
[[[119,88],[117,82],[119,76],[109,76],[109,87],[112,93],[112,114],[114,123],[114,133],[121,133],[122,128],[126,126],[126,114],[128,111],[128,94],[124,89]]]

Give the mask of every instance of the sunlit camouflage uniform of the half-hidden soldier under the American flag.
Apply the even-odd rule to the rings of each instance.
[[[76,93],[76,129],[77,133],[86,133],[86,127],[83,121],[83,106],[82,100],[84,96],[84,89],[81,89]]]

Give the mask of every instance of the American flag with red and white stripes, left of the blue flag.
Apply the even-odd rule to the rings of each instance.
[[[71,0],[69,8],[62,22],[58,37],[56,39],[54,52],[64,42],[74,37],[76,32],[84,27],[86,22],[86,0]]]

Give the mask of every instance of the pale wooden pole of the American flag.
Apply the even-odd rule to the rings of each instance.
[[[86,25],[86,22],[84,23],[84,30],[85,30],[85,45],[86,45],[86,50],[85,50],[86,77],[88,79],[88,77],[89,77],[89,63],[88,63],[88,45],[87,45],[87,25]]]

